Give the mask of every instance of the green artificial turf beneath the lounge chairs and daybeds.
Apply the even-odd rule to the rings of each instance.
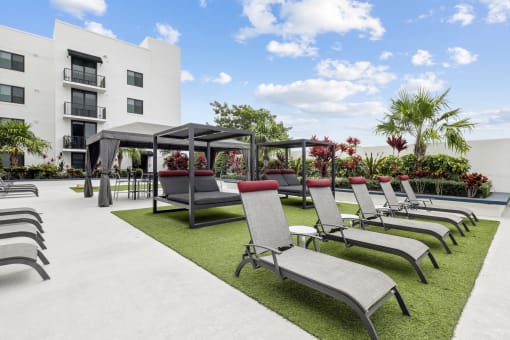
[[[301,209],[300,200],[282,202],[289,225],[313,225],[316,221],[315,210]],[[339,206],[343,213],[356,210],[350,204]],[[138,209],[113,213],[318,338],[368,337],[357,315],[325,294],[290,280],[280,282],[274,273],[253,270],[250,265],[236,278],[234,271],[241,260],[243,245],[250,239],[245,221],[190,229],[186,211],[153,214],[151,209]],[[199,210],[197,220],[239,214],[241,206]],[[371,317],[381,339],[450,339],[498,224],[482,220],[471,227],[466,237],[451,227],[459,242],[458,246],[451,245],[451,255],[430,236],[390,231],[412,236],[430,247],[440,269],[434,269],[428,258],[422,260],[429,284],[421,283],[411,265],[398,256],[360,247],[347,249],[332,241],[323,242],[321,252],[377,268],[395,280],[412,316],[402,315],[395,298],[388,300]],[[449,240],[448,243],[451,244]]]

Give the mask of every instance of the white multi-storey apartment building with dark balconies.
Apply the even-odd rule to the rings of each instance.
[[[180,124],[180,49],[150,37],[134,45],[58,20],[52,39],[0,26],[0,119],[29,123],[50,142],[49,158],[62,153],[65,164],[83,168],[86,138],[102,129]],[[45,160],[27,154],[22,161]]]

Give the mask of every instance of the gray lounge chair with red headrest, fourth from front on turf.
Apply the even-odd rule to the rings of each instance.
[[[398,201],[398,197],[391,186],[391,177],[390,176],[380,176],[378,177],[379,184],[383,189],[384,197],[386,198],[386,206],[390,208],[392,215],[405,216],[408,218],[424,218],[429,220],[443,221],[451,223],[457,228],[461,236],[465,236],[462,231],[461,225],[464,226],[466,231],[469,231],[468,226],[464,222],[464,219],[456,214],[445,213],[440,211],[426,211],[426,210],[418,210],[412,209],[412,207],[407,204],[401,203]]]

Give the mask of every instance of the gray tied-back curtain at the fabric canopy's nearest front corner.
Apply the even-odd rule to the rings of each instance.
[[[112,190],[110,188],[110,172],[115,155],[119,149],[120,140],[118,139],[101,139],[100,141],[100,158],[101,158],[101,181],[99,182],[98,205],[100,207],[108,207],[113,204]]]

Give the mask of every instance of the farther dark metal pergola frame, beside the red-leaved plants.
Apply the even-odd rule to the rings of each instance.
[[[285,150],[285,163],[284,166],[288,168],[289,166],[289,150],[290,149],[296,149],[301,148],[301,169],[302,169],[302,190],[301,190],[301,197],[303,199],[303,208],[309,207],[306,203],[306,197],[307,197],[307,191],[306,191],[306,148],[311,146],[323,146],[325,148],[331,148],[332,149],[332,160],[331,160],[331,190],[335,189],[335,144],[331,142],[324,142],[324,141],[318,141],[318,140],[311,140],[311,139],[293,139],[293,140],[286,140],[286,141],[278,141],[278,142],[265,142],[265,143],[258,143],[256,146],[256,169],[257,169],[257,179],[259,179],[259,150],[264,148],[271,148],[271,149],[283,149]],[[288,193],[285,193],[285,195],[288,195]]]

